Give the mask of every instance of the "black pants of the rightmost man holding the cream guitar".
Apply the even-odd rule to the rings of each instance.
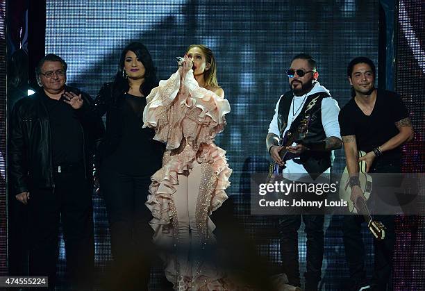
[[[399,163],[394,161],[376,160],[371,168],[371,173],[398,173]],[[374,185],[378,181],[373,182]],[[379,188],[374,188],[371,194],[377,194]],[[394,256],[394,215],[372,215],[374,220],[382,222],[385,229],[385,238],[382,241],[374,240],[374,274],[372,276],[372,290],[387,290],[392,273],[392,260]],[[361,238],[361,224],[363,216],[344,215],[342,232],[344,235],[345,257],[349,265],[350,278],[353,285],[366,281],[365,272],[365,246]],[[372,234],[371,234],[372,235]]]

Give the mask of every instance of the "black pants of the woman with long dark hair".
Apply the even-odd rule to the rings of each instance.
[[[147,290],[151,267],[151,212],[144,205],[150,176],[129,176],[107,167],[100,172],[114,258],[113,290]]]

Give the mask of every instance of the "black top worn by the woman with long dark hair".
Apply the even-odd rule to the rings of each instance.
[[[122,115],[124,128],[122,137],[114,153],[104,161],[103,165],[127,175],[151,176],[161,167],[163,144],[153,140],[155,131],[142,128],[143,110],[146,97],[124,94]]]

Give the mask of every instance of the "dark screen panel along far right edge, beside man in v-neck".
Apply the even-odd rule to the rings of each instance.
[[[425,5],[424,1],[398,4],[396,88],[410,112],[415,139],[403,147],[404,172],[425,172]],[[424,194],[424,185],[421,188]],[[424,213],[424,209],[422,209]],[[425,217],[399,217],[394,289],[425,288]],[[420,287],[419,287],[420,286]]]

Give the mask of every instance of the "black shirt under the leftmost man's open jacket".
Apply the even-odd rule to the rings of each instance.
[[[83,161],[83,128],[76,110],[63,101],[44,94],[51,129],[53,165],[75,164]]]

